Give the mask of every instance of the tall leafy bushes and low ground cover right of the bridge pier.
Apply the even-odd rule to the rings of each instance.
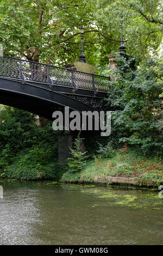
[[[136,177],[140,184],[163,182],[163,60],[149,58],[138,65],[135,58],[121,53],[116,63],[106,99],[112,109],[111,135],[96,142],[94,159],[85,168],[64,173],[62,181],[93,181],[95,175],[112,175]]]

